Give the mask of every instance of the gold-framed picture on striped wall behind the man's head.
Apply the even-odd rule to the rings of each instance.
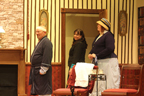
[[[45,26],[48,34],[48,26],[49,26],[49,14],[48,11],[45,9],[42,9],[39,13],[39,25]]]

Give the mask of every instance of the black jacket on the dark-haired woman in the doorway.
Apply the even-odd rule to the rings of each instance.
[[[78,41],[72,45],[69,51],[68,66],[76,64],[77,62],[85,62],[85,52],[87,45],[84,42]]]

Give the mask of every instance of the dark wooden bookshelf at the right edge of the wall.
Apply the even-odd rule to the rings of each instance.
[[[144,7],[138,8],[138,63],[144,64]]]

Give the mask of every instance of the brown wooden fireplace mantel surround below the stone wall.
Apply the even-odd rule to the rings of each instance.
[[[25,94],[25,49],[0,49],[0,65],[18,65],[18,96]]]

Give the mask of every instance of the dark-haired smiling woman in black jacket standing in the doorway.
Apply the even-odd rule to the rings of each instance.
[[[69,73],[77,62],[85,62],[86,49],[87,43],[85,40],[84,32],[81,29],[76,29],[74,31],[73,44],[69,51]]]

